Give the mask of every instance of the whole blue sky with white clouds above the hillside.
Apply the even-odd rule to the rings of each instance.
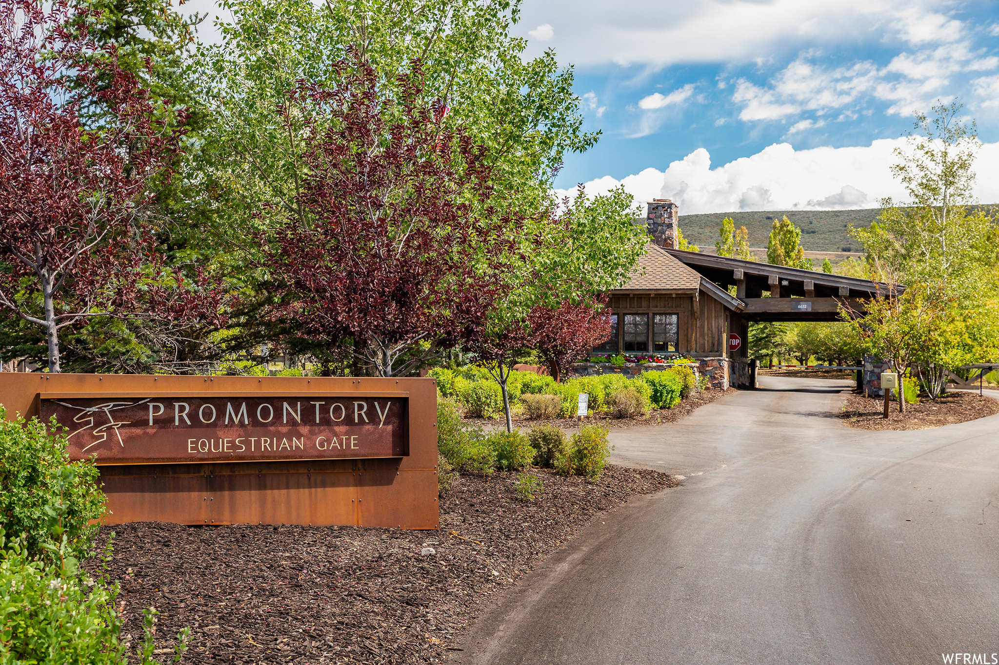
[[[562,189],[623,181],[681,213],[876,206],[904,195],[888,167],[912,112],[956,98],[999,201],[997,2],[528,0],[516,32],[574,65],[603,133]]]

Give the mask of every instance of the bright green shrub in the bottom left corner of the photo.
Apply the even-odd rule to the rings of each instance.
[[[117,597],[117,584],[95,580],[75,565],[35,558],[23,538],[0,535],[0,663],[156,665],[156,610],[146,610],[144,636],[133,661],[115,611]],[[190,632],[185,628],[178,633],[174,663],[187,650]]]

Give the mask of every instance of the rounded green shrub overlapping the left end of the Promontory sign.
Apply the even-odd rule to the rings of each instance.
[[[98,528],[90,522],[104,515],[100,473],[93,461],[70,462],[64,431],[55,420],[51,433],[37,418],[7,422],[0,406],[0,528],[49,560],[64,536],[66,555],[86,557]]]

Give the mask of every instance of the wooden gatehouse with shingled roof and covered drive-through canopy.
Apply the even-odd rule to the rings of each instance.
[[[888,289],[866,279],[649,242],[628,281],[610,291],[611,336],[593,351],[681,354],[705,369],[721,368],[718,385],[747,385],[750,322],[837,321],[841,303],[863,311],[862,299]]]

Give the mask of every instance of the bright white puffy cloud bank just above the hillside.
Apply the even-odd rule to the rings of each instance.
[[[876,207],[884,196],[904,199],[905,191],[891,176],[897,158],[892,151],[903,139],[883,139],[858,148],[814,148],[795,151],[774,144],[747,158],[711,168],[711,158],[698,149],[664,171],[645,168],[620,180],[609,175],[585,184],[587,194],[624,188],[637,203],[672,198],[680,215],[756,209]],[[979,173],[999,170],[999,143],[986,144],[975,164]],[[559,190],[558,195],[568,191]],[[999,181],[978,178],[975,195],[999,201]]]

